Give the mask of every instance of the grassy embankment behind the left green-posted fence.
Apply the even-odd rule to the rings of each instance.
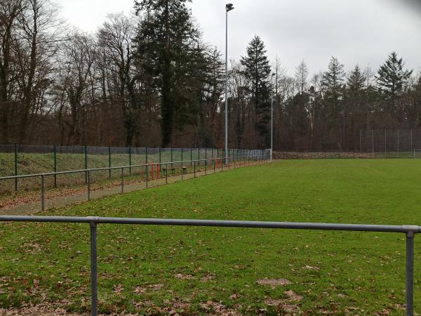
[[[180,162],[183,160],[201,159],[204,158],[205,152],[201,150],[201,154],[194,150],[190,152],[173,152],[173,162]],[[216,156],[217,152],[214,151]],[[210,151],[208,152],[208,157]],[[148,163],[159,162],[159,154],[148,154]],[[171,152],[161,153],[161,162],[171,162]],[[132,154],[129,160],[128,154],[112,154],[111,166],[129,166],[140,165],[146,163],[145,154]],[[210,162],[208,162],[210,164]],[[203,162],[201,162],[203,165]],[[108,154],[88,154],[88,168],[107,168],[109,167]],[[175,164],[175,168],[180,169],[180,164]],[[57,171],[71,171],[85,169],[85,155],[84,154],[57,154]],[[19,153],[18,154],[18,174],[36,174],[36,173],[50,173],[54,171],[54,155],[51,154],[32,154],[32,153]],[[131,170],[133,176],[138,176],[141,171],[139,168]],[[178,170],[179,172],[179,170]],[[130,171],[125,169],[125,176],[130,180]],[[15,175],[15,156],[14,154],[0,153],[0,177],[1,176],[14,176]],[[105,185],[121,176],[121,171],[95,171],[91,173],[91,182],[98,183],[98,185]],[[134,178],[134,177],[133,177]],[[60,187],[77,187],[85,184],[84,173],[72,173],[67,175],[57,176],[57,186]],[[53,188],[53,176],[46,177],[47,190]],[[1,180],[0,181],[0,198],[10,195],[22,195],[25,192],[39,191],[40,178],[25,178],[18,180],[18,192],[15,192],[15,180]]]

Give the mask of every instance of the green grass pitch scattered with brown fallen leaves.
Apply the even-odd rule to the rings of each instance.
[[[420,178],[417,159],[283,161],[42,214],[417,225]],[[90,310],[88,225],[2,223],[0,240],[2,308]],[[420,254],[416,237],[418,313]],[[99,225],[98,256],[103,313],[404,314],[403,234]]]

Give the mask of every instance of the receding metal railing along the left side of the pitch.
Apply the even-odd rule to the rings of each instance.
[[[225,160],[227,160],[228,164],[225,164]],[[161,167],[165,166],[165,169],[163,171],[165,176],[165,183],[168,184],[168,166],[170,167],[171,171],[175,171],[174,166],[177,164],[180,164],[180,176],[181,180],[183,180],[183,176],[185,176],[185,173],[187,171],[187,167],[183,166],[185,164],[189,164],[190,168],[193,169],[194,178],[196,178],[196,164],[201,164],[201,162],[204,162],[204,172],[205,175],[208,173],[208,164],[210,162],[210,167],[213,167],[213,173],[216,172],[216,169],[221,169],[221,171],[224,171],[224,164],[225,169],[229,171],[230,165],[234,164],[234,169],[237,168],[238,164],[241,166],[242,163],[246,163],[248,166],[253,164],[260,164],[261,162],[267,162],[269,161],[269,157],[267,155],[247,155],[247,156],[241,156],[241,157],[220,157],[220,158],[207,158],[207,159],[192,159],[192,160],[184,160],[180,162],[154,162],[150,164],[137,164],[133,166],[114,166],[114,167],[105,167],[105,168],[95,168],[95,169],[81,169],[81,170],[72,170],[72,171],[58,171],[58,172],[48,172],[48,173],[36,173],[36,174],[27,174],[27,175],[21,175],[21,176],[6,176],[6,177],[0,177],[1,180],[17,180],[22,178],[40,178],[41,180],[41,210],[44,211],[46,206],[46,199],[45,199],[45,192],[46,192],[46,177],[53,176],[56,178],[58,175],[69,175],[69,174],[75,174],[75,173],[85,173],[86,175],[86,199],[89,201],[91,200],[91,176],[93,172],[95,171],[112,171],[112,170],[121,170],[121,193],[124,193],[124,170],[132,170],[132,169],[145,169],[146,177],[145,177],[145,183],[146,187],[149,186],[149,182],[151,179],[149,179],[149,173],[151,173],[151,178],[154,180],[154,173],[156,170],[156,178],[159,179],[160,176],[163,176],[161,173]],[[217,167],[218,166],[218,167]],[[156,168],[157,169],[154,169]],[[131,173],[131,172],[130,172]],[[173,176],[173,175],[171,175]],[[143,176],[142,176],[143,180]]]

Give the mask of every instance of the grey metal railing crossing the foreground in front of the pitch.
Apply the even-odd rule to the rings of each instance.
[[[413,225],[357,225],[326,223],[253,222],[241,220],[187,220],[152,218],[63,217],[63,216],[0,216],[2,222],[87,223],[91,228],[91,314],[98,315],[98,224],[166,225],[225,228],[269,228],[288,230],[338,230],[355,232],[396,232],[406,235],[406,315],[413,316],[414,298],[414,237],[421,232]]]

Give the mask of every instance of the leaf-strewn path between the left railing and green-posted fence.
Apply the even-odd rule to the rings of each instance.
[[[258,166],[260,164],[256,164],[255,162],[251,166]],[[206,176],[213,173],[220,173],[226,172],[228,169],[231,171],[233,169],[248,167],[247,163],[244,164],[236,164],[234,168],[234,164],[231,164],[229,168],[224,166],[223,171],[221,169],[208,169],[207,171],[204,170],[203,167],[196,171],[196,178],[200,176]],[[168,184],[176,183],[182,180],[189,180],[195,178],[194,173],[187,173],[185,175],[175,175],[171,176],[168,174]],[[147,185],[148,184],[148,185]],[[123,192],[133,192],[138,190],[144,190],[149,187],[157,187],[160,185],[166,185],[166,178],[160,178],[158,180],[149,180],[146,183],[145,180],[143,181],[133,181],[131,180],[128,183],[125,183],[123,186]],[[91,200],[92,199],[99,199],[101,197],[108,197],[112,195],[121,194],[121,185],[116,185],[116,183],[111,183],[108,187],[100,187],[91,189]],[[74,189],[64,189],[64,190],[56,190],[55,192],[46,192],[45,198],[45,208],[46,209],[53,209],[58,206],[65,206],[70,204],[76,204],[80,202],[85,202],[88,199],[86,187],[78,187]],[[2,202],[3,208],[0,208],[0,215],[29,215],[34,214],[36,212],[41,211],[41,196],[40,194],[36,194],[34,192],[23,195],[21,197],[15,197],[13,199],[8,199]],[[0,206],[1,207],[1,206]]]

